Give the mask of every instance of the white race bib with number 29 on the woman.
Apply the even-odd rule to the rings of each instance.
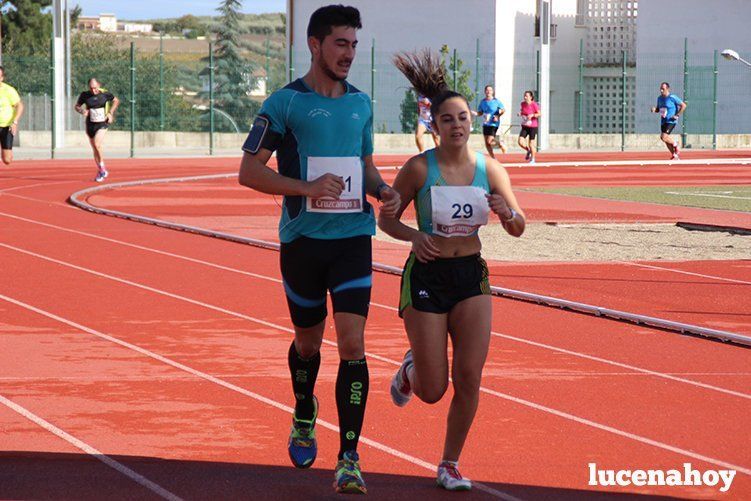
[[[485,193],[477,186],[431,186],[433,233],[466,237],[488,224],[490,206]]]

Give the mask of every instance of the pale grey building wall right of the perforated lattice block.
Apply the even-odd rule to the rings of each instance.
[[[667,18],[669,23],[665,23]],[[710,133],[714,51],[734,49],[751,59],[749,21],[749,0],[641,0],[636,47],[638,127],[655,123],[649,107],[654,106],[660,82],[667,81],[679,96],[688,95],[688,129]],[[688,93],[683,85],[684,37],[688,39]],[[717,70],[717,132],[748,133],[751,115],[745,109],[751,103],[751,68],[719,57]]]

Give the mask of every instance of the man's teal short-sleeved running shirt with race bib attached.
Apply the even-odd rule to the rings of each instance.
[[[279,221],[282,243],[301,236],[340,239],[375,234],[363,162],[373,154],[373,112],[367,94],[343,83],[347,91],[337,98],[317,94],[301,78],[274,92],[243,145],[249,153],[260,147],[275,150],[283,176],[312,181],[331,172],[345,181],[339,200],[285,196]]]

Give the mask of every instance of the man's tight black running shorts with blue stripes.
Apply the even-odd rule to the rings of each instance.
[[[370,235],[323,240],[299,237],[279,252],[292,323],[313,327],[327,315],[326,291],[334,313],[368,316],[373,252]]]

